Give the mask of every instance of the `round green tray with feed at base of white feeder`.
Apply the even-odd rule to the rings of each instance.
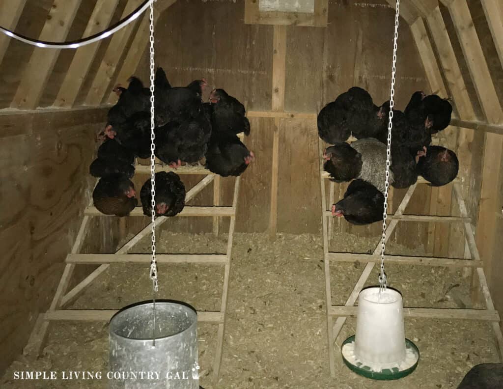
[[[405,350],[407,355],[407,360],[412,358],[412,365],[410,363],[404,363],[403,368],[393,367],[391,369],[382,369],[381,371],[375,371],[369,366],[366,366],[360,362],[357,362],[354,356],[354,344],[355,344],[355,335],[350,336],[346,339],[341,347],[341,353],[343,355],[344,363],[351,370],[353,370],[358,375],[361,375],[365,378],[391,381],[393,379],[403,378],[409,375],[412,371],[417,367],[417,363],[419,362],[419,349],[415,344],[413,344],[410,340],[405,339]]]

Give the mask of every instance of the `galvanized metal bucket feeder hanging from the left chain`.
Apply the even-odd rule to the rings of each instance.
[[[176,302],[121,310],[110,321],[111,389],[199,389],[197,313]]]

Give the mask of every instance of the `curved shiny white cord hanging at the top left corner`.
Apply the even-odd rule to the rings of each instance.
[[[156,0],[145,0],[145,2],[141,6],[139,6],[136,10],[134,10],[126,18],[119,21],[115,25],[115,27],[108,28],[105,31],[91,35],[87,38],[82,38],[71,42],[46,42],[37,39],[32,39],[20,35],[18,33],[15,33],[14,31],[8,30],[7,28],[4,28],[2,26],[0,26],[0,31],[6,34],[7,36],[10,36],[11,38],[17,39],[21,42],[28,43],[29,45],[37,47],[43,47],[49,49],[76,49],[81,46],[86,46],[91,43],[98,42],[101,39],[108,38],[110,35],[114,34],[120,29],[126,27],[132,21],[136,20],[149,6],[152,6],[152,4],[155,1]]]

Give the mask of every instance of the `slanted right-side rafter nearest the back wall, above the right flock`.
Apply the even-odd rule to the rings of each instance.
[[[412,32],[415,45],[417,46],[417,51],[419,52],[423,62],[423,67],[425,68],[426,76],[428,77],[428,82],[430,83],[430,90],[434,94],[447,96],[447,90],[445,89],[444,81],[442,80],[442,73],[437,65],[435,52],[433,51],[423,19],[418,18],[414,23],[412,23],[410,25],[410,31]]]

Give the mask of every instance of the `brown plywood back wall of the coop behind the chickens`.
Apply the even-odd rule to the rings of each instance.
[[[380,3],[371,7],[356,1],[330,2],[327,28],[286,27],[285,111],[316,113],[318,101],[332,101],[354,85],[367,88],[378,104],[388,99],[394,13],[385,2]],[[240,2],[175,3],[157,24],[157,63],[175,85],[206,76],[211,85],[247,100],[248,110],[269,111],[274,28],[243,24],[243,12]],[[198,22],[202,19],[204,24]],[[403,109],[413,92],[428,92],[429,86],[405,23],[400,27],[399,47],[396,93],[397,105]],[[146,54],[136,72],[142,80],[148,79]],[[236,230],[246,232],[266,231],[269,226],[274,119],[251,119],[251,128],[245,142],[256,153],[257,161],[243,175],[236,220]],[[321,220],[315,122],[282,119],[279,133],[278,231],[316,234]],[[232,182],[222,179],[222,199],[227,204]],[[425,189],[422,196],[427,197],[427,192]],[[206,196],[209,202],[211,191]],[[417,203],[423,203],[421,196]],[[190,230],[201,228],[199,221],[188,223]],[[426,242],[425,226],[414,228],[421,231]],[[377,235],[379,228],[348,230]]]

